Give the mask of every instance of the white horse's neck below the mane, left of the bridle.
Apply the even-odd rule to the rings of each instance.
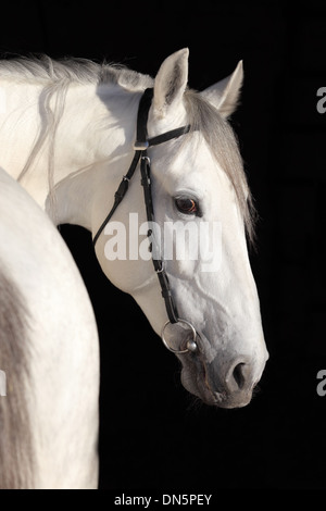
[[[97,194],[103,187],[113,194],[128,164],[137,95],[116,85],[71,84],[48,104],[43,86],[1,86],[7,102],[0,114],[0,166],[58,224],[90,229]]]

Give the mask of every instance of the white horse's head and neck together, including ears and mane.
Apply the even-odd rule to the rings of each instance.
[[[217,264],[208,270],[206,254],[193,258],[189,247],[183,257],[165,258],[183,320],[175,329],[168,325],[167,333],[168,316],[149,258],[140,257],[140,250],[138,257],[126,250],[126,258],[114,258],[108,249],[114,246],[111,222],[100,232],[96,253],[108,278],[135,298],[153,329],[159,335],[164,329],[164,341],[181,361],[184,386],[206,403],[242,407],[268,357],[247,251],[246,230],[249,237],[253,232],[250,191],[227,122],[238,101],[242,65],[201,94],[188,89],[187,82],[187,49],[168,57],[155,79],[88,61],[3,61],[0,165],[55,224],[77,224],[97,236],[130,166],[140,98],[153,88],[148,136],[190,125],[189,133],[148,149],[156,226],[173,235],[175,225],[190,222],[206,247],[217,226],[218,242],[211,247]],[[139,167],[112,219],[116,228],[125,226],[128,247],[136,216],[143,247],[147,215]],[[191,228],[185,237],[191,247]],[[183,349],[189,346],[189,328],[192,351]]]

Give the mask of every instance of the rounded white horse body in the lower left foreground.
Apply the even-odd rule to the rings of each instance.
[[[75,262],[0,170],[0,488],[96,488],[99,347]]]

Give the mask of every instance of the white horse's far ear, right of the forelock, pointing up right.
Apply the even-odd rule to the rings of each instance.
[[[231,75],[203,90],[201,95],[218,110],[223,117],[229,117],[238,105],[242,82],[243,66],[240,61]]]

